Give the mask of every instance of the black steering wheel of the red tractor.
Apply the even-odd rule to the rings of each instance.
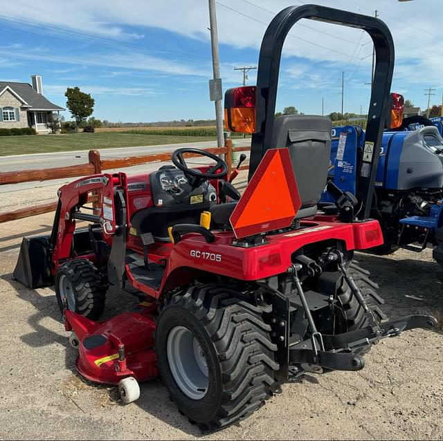
[[[215,160],[217,164],[215,164],[214,167],[211,167],[206,173],[203,171],[197,170],[197,169],[190,169],[188,165],[186,164],[185,159],[183,158],[183,155],[185,153],[193,153],[199,156],[206,156],[206,158],[210,158],[212,160]],[[226,162],[219,158],[216,155],[213,155],[213,153],[209,153],[206,150],[199,150],[199,149],[177,149],[172,153],[171,157],[172,163],[183,171],[183,173],[186,174],[186,176],[192,177],[192,183],[191,185],[193,187],[200,185],[201,182],[208,179],[218,179],[218,178],[224,178],[228,174],[228,165],[226,165]],[[217,170],[220,170],[219,173],[216,173]]]

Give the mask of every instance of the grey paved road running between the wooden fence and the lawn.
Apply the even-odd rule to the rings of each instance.
[[[238,146],[251,144],[250,139],[236,140]],[[125,156],[139,156],[150,153],[165,153],[180,147],[208,148],[217,147],[217,141],[189,142],[186,144],[164,144],[158,146],[119,147],[118,149],[102,149],[100,156],[103,159],[123,158]],[[34,155],[0,156],[0,171],[15,171],[28,169],[48,169],[68,165],[78,165],[88,162],[88,151],[62,151],[60,153],[37,153]]]

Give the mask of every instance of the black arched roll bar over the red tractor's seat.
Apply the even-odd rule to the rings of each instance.
[[[257,133],[252,135],[249,179],[253,176],[266,150],[271,147],[282,47],[289,30],[300,19],[325,21],[363,29],[368,32],[374,42],[376,64],[365,135],[365,142],[374,144],[369,144],[372,153],[365,157],[368,162],[361,163],[356,195],[363,203],[360,210],[363,218],[369,218],[381,135],[390,111],[390,86],[394,70],[392,35],[386,24],[374,17],[317,5],[290,6],[274,17],[266,29],[260,48],[257,71]]]

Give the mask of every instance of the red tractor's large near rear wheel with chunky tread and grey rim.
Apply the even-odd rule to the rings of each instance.
[[[260,408],[275,386],[270,326],[262,310],[226,285],[200,285],[165,301],[155,347],[163,383],[179,411],[217,430]]]

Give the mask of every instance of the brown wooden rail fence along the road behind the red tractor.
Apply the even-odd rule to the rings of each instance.
[[[228,164],[229,173],[233,165],[233,151],[249,151],[250,147],[235,147],[233,149],[232,140],[229,138],[225,141],[225,146],[221,148],[205,149],[215,155],[225,155],[226,163]],[[188,158],[195,158],[197,154],[188,154]],[[60,178],[77,178],[80,176],[88,176],[102,173],[102,171],[111,169],[120,169],[124,167],[132,167],[134,165],[146,164],[147,162],[164,162],[169,161],[171,153],[159,153],[143,156],[130,156],[127,158],[105,159],[100,158],[98,150],[90,150],[88,154],[89,162],[80,165],[72,165],[69,167],[54,167],[51,169],[38,170],[19,170],[7,171],[0,173],[0,185],[19,184],[20,182],[44,181]],[[248,166],[240,167],[241,170],[247,169]],[[94,198],[91,202],[96,202]],[[57,208],[57,202],[51,202],[33,207],[26,207],[17,209],[12,212],[0,213],[0,223],[8,222],[8,220],[16,220],[53,212]]]

